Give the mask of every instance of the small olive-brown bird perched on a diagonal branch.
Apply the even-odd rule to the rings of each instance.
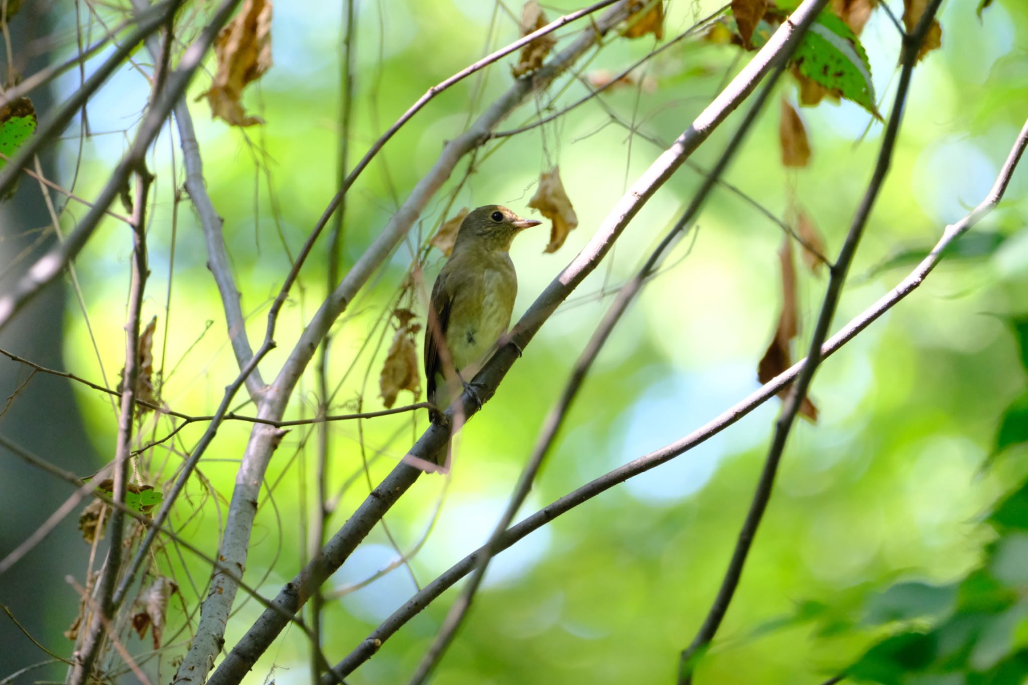
[[[507,332],[517,295],[508,251],[515,235],[541,223],[499,204],[480,206],[461,222],[453,252],[432,287],[425,333],[429,402],[440,412],[467,387]],[[440,339],[446,351],[440,350]],[[456,375],[447,378],[450,367]]]

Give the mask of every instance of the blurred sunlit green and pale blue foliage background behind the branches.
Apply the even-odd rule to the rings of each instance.
[[[276,6],[274,66],[245,99],[264,125],[231,128],[211,121],[205,103],[191,104],[207,186],[225,221],[225,240],[255,343],[263,337],[267,307],[288,272],[289,255],[295,256],[336,187],[340,4]],[[351,164],[430,85],[513,40],[517,27],[511,13],[520,11],[511,4],[494,10],[491,3],[474,0],[358,4]],[[976,5],[974,0],[943,5],[943,47],[915,71],[888,184],[868,225],[834,329],[892,288],[916,263],[911,254],[933,244],[947,223],[984,197],[1028,115],[1028,5],[996,0],[981,20]],[[706,0],[670,3],[665,37],[685,31],[717,6]],[[900,3],[890,6],[902,11]],[[551,17],[576,7],[570,2],[545,5]],[[69,26],[62,27],[63,35],[69,35]],[[183,41],[199,26],[194,22]],[[584,26],[580,22],[560,35],[572,36]],[[897,77],[900,35],[879,10],[862,41],[880,109],[886,113]],[[564,44],[566,39],[560,46]],[[583,73],[618,72],[653,47],[652,37],[627,41],[611,36],[578,68]],[[145,52],[137,58],[148,70]],[[652,92],[624,88],[602,99],[625,123],[669,142],[747,59],[730,45],[686,41],[647,67],[646,74],[656,82]],[[444,142],[509,87],[510,64],[510,58],[501,61],[434,100],[372,162],[347,197],[343,269],[378,234]],[[69,73],[59,80],[59,100],[77,86],[77,78]],[[209,75],[201,75],[190,96],[200,93],[208,82]],[[795,102],[791,80],[783,79],[779,90]],[[559,108],[585,92],[582,84],[568,84],[564,77],[502,127],[520,125],[537,109]],[[143,76],[126,67],[90,103],[96,135],[84,143],[80,195],[94,196],[105,182],[130,140],[122,131],[132,130],[147,93]],[[784,217],[791,202],[798,202],[822,232],[828,254],[835,255],[870,179],[882,126],[849,103],[822,103],[801,114],[813,148],[808,168],[782,168],[778,105],[771,100],[726,178],[775,215]],[[739,113],[729,118],[694,161],[711,166],[739,119]],[[236,368],[206,267],[203,234],[188,201],[175,206],[183,180],[177,145],[177,135],[166,128],[149,160],[156,184],[144,320],[157,317],[154,352],[166,378],[163,401],[178,411],[209,414]],[[77,146],[77,140],[62,144],[63,175],[70,174]],[[440,221],[462,206],[492,202],[534,216],[527,201],[537,179],[559,164],[581,223],[555,255],[542,254],[546,227],[518,238],[512,250],[520,281],[517,316],[587,242],[615,200],[660,151],[590,103],[553,124],[486,145],[474,174],[454,195],[466,168],[462,163],[410,240],[336,325],[329,380],[338,386],[331,411],[382,407],[377,379],[392,338],[383,314],[395,304],[418,244]],[[451,475],[424,477],[390,512],[389,529],[407,551],[425,534],[444,497],[431,536],[409,568],[398,568],[327,604],[324,651],[330,661],[348,653],[405,602],[416,589],[415,579],[424,585],[485,541],[546,412],[610,305],[613,289],[673,223],[700,179],[684,167],[657,193],[607,263],[543,327],[495,397],[464,430]],[[888,632],[889,626],[864,620],[870,598],[898,580],[953,581],[981,561],[992,535],[981,519],[1028,470],[1023,449],[1004,452],[982,470],[993,452],[1001,415],[1025,387],[1017,341],[1005,319],[1028,313],[1026,191],[1028,174],[1022,169],[1008,199],[975,229],[993,238],[975,243],[985,245],[981,254],[958,250],[920,290],[818,372],[812,397],[820,420],[817,425],[800,422],[794,430],[741,586],[711,652],[699,665],[697,682],[821,682]],[[81,214],[72,207],[64,218],[66,227]],[[757,363],[780,306],[781,230],[719,189],[694,231],[695,240],[676,248],[668,268],[646,287],[603,349],[522,515],[685,435],[758,387]],[[325,244],[318,243],[283,310],[278,348],[261,365],[265,380],[274,376],[325,295]],[[123,225],[104,224],[76,262],[88,325],[73,296],[65,313],[68,369],[98,382],[106,378],[111,386],[123,363],[131,250]],[[430,253],[430,282],[441,263],[439,253]],[[823,273],[814,276],[801,267],[797,353],[805,347],[825,283]],[[414,301],[413,308],[420,314],[424,301]],[[75,393],[93,446],[106,461],[116,435],[111,402],[83,386],[76,385]],[[420,398],[402,393],[399,404]],[[310,417],[317,403],[311,374],[299,386],[289,418]],[[502,554],[434,682],[671,681],[678,652],[702,620],[728,562],[778,405],[773,399],[725,433],[585,503]],[[251,409],[241,406],[237,411]],[[341,500],[329,533],[426,425],[424,412],[416,418],[331,425],[327,490],[341,494]],[[167,419],[154,424],[148,417],[141,435],[160,437],[171,427]],[[203,429],[203,424],[189,426],[151,453],[155,484],[172,477]],[[248,432],[249,424],[240,422],[219,430],[200,462],[204,482],[197,479],[189,486],[173,517],[180,534],[212,555]],[[268,469],[247,565],[247,579],[268,597],[307,559],[304,538],[315,504],[316,443],[310,428],[293,428]],[[205,596],[206,565],[188,553],[166,549],[157,555],[158,567],[176,578],[185,606],[192,608]],[[359,582],[396,558],[377,527],[333,576],[329,589]],[[1024,560],[1028,564],[1028,556]],[[404,682],[453,597],[450,591],[413,619],[348,682]],[[65,595],[53,600],[60,618],[48,642],[64,649],[68,643],[62,643],[59,633],[74,611],[66,600]],[[812,603],[823,606],[810,610],[816,606]],[[243,594],[237,605],[228,646],[260,612]],[[179,631],[186,623],[183,603],[175,600],[173,606],[177,613],[166,633],[173,646],[159,671],[166,682],[174,673],[173,659],[184,653],[189,639],[188,630]],[[67,612],[68,621],[61,612]],[[188,624],[195,625],[195,616]],[[836,630],[825,630],[832,624]],[[135,639],[131,645],[146,649]],[[248,682],[309,682],[308,664],[305,638],[288,630]]]

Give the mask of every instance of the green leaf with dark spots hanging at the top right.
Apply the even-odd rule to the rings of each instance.
[[[810,26],[793,62],[803,76],[850,100],[877,119],[871,63],[856,34],[832,12],[821,12]]]

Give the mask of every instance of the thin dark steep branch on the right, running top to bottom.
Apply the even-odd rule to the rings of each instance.
[[[853,222],[846,235],[846,240],[843,242],[843,246],[839,251],[839,257],[835,264],[831,265],[831,275],[828,288],[825,289],[824,300],[821,304],[820,312],[817,315],[817,322],[814,326],[814,333],[810,340],[810,348],[807,352],[807,364],[804,365],[803,371],[800,373],[796,384],[793,386],[792,391],[785,398],[781,415],[775,422],[774,435],[771,440],[771,447],[768,450],[768,456],[764,463],[764,469],[761,473],[760,480],[758,481],[757,490],[754,493],[749,510],[746,512],[745,521],[739,530],[735,549],[732,553],[732,559],[725,571],[721,587],[710,605],[710,609],[707,612],[706,618],[703,620],[703,624],[700,626],[699,631],[697,631],[692,643],[687,649],[682,651],[678,662],[678,683],[682,685],[690,685],[690,683],[692,683],[693,667],[695,665],[694,657],[706,649],[706,647],[713,640],[714,635],[718,633],[718,629],[721,626],[722,620],[725,618],[725,614],[727,613],[728,607],[732,602],[732,598],[735,596],[739,579],[742,576],[742,568],[745,565],[749,549],[752,546],[754,537],[757,534],[757,529],[760,527],[761,520],[764,517],[764,511],[767,509],[768,501],[771,499],[774,479],[778,471],[778,464],[781,461],[781,455],[785,450],[785,442],[793,428],[796,415],[800,411],[800,406],[802,405],[803,399],[807,396],[807,389],[810,387],[810,383],[813,380],[814,372],[817,370],[817,367],[821,361],[821,345],[824,343],[824,339],[828,337],[829,328],[832,326],[832,318],[835,316],[839,299],[842,296],[842,288],[846,281],[846,274],[849,271],[850,264],[853,261],[853,256],[856,253],[856,248],[860,242],[864,229],[871,216],[875,199],[878,197],[878,193],[885,183],[885,177],[888,175],[889,164],[892,159],[892,152],[895,147],[895,140],[900,131],[900,124],[903,121],[904,106],[907,102],[907,93],[910,89],[910,81],[913,75],[914,65],[917,63],[917,55],[920,50],[921,43],[924,41],[928,28],[934,20],[935,12],[939,10],[941,2],[942,0],[930,0],[925,6],[924,12],[921,14],[920,21],[915,27],[913,33],[904,35],[903,51],[901,54],[901,64],[903,65],[903,69],[900,74],[900,84],[896,87],[896,96],[892,106],[892,112],[889,115],[889,120],[885,127],[885,134],[882,137],[882,145],[878,153],[878,160],[875,164],[874,173],[872,174],[871,181],[868,184],[868,189],[865,192],[864,198],[857,206],[856,213],[853,217]]]

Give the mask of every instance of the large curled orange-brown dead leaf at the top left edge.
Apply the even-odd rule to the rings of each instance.
[[[233,126],[263,123],[247,116],[241,99],[243,88],[271,67],[271,2],[245,0],[243,9],[214,41],[218,71],[211,89],[200,96],[211,104],[211,115]]]

